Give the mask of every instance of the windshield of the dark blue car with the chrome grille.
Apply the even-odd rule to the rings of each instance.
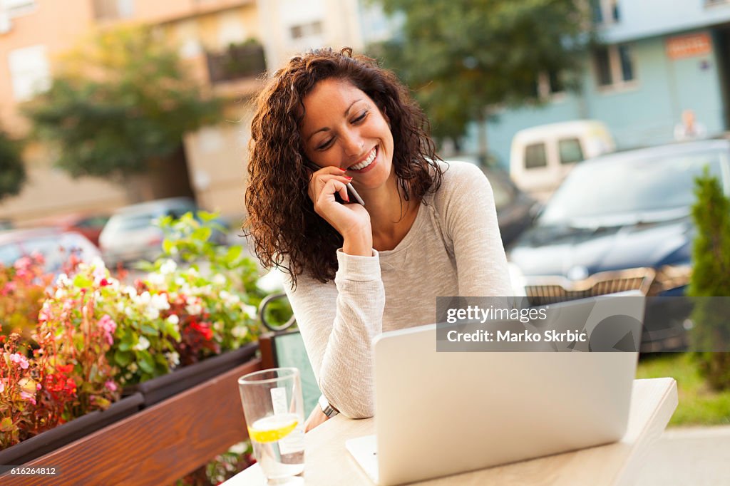
[[[610,157],[580,164],[550,199],[539,224],[688,208],[694,203],[694,178],[705,166],[721,177],[721,152]]]

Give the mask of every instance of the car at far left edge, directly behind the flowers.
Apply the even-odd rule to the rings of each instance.
[[[85,236],[58,228],[10,230],[0,233],[0,263],[11,266],[19,258],[39,252],[45,258],[45,270],[57,274],[71,253],[81,261],[101,257],[96,246]]]

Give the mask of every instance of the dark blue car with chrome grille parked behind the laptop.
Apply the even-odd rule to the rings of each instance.
[[[650,297],[642,352],[681,349],[691,306],[694,178],[705,167],[730,192],[730,142],[706,140],[586,161],[561,184],[509,258],[532,304],[641,290]]]

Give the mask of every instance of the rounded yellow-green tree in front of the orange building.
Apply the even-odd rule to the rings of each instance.
[[[177,53],[150,28],[104,31],[69,53],[50,90],[24,108],[72,177],[125,183],[171,157],[183,135],[220,117]]]

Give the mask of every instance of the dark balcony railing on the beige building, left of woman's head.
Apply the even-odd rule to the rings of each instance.
[[[223,53],[206,53],[212,84],[255,77],[266,71],[264,47],[259,44],[231,44]]]

